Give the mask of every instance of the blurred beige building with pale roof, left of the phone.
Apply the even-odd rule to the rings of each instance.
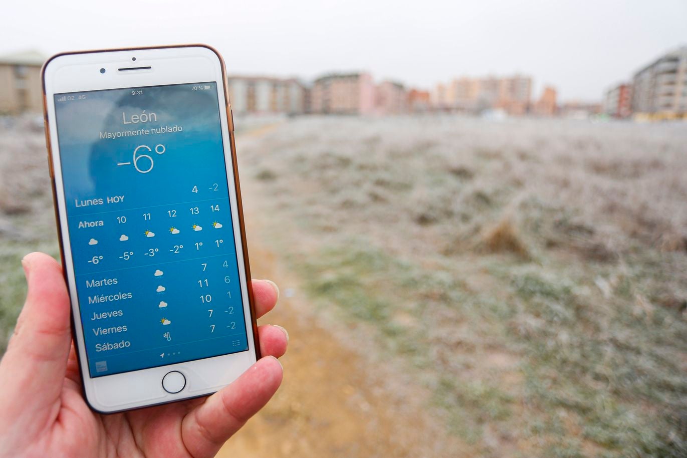
[[[0,56],[0,114],[43,111],[43,62],[45,57],[36,51]]]

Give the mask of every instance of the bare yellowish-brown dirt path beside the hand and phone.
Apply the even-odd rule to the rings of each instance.
[[[332,332],[332,323],[323,324],[313,312],[295,276],[261,240],[263,221],[249,205],[256,189],[249,175],[244,176],[251,273],[254,278],[274,279],[282,289],[277,308],[260,322],[283,325],[290,342],[282,358],[282,387],[218,457],[459,456],[458,446],[440,438],[438,422],[423,411],[423,391],[407,396],[413,391],[389,389],[393,375],[343,345],[346,330],[337,326]]]

